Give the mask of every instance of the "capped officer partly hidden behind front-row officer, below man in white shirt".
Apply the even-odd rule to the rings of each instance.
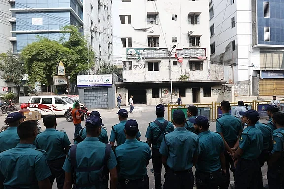
[[[114,142],[116,141],[116,145],[119,146],[123,144],[126,140],[125,134],[124,134],[124,125],[126,123],[126,120],[128,118],[128,112],[126,109],[120,109],[118,111],[118,119],[120,121],[119,124],[116,124],[112,126],[111,134],[110,134],[110,144],[112,148],[114,148]],[[139,137],[141,134],[138,132],[136,135],[136,139],[140,140]]]

